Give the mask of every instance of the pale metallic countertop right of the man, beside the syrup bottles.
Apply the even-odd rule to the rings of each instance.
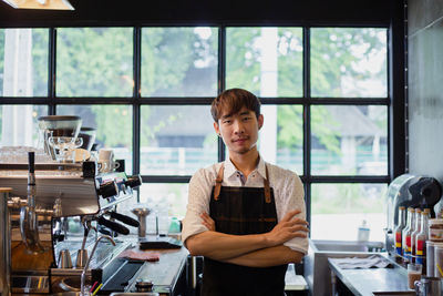
[[[398,264],[392,268],[343,269],[329,261],[329,267],[354,294],[373,296],[373,292],[412,292],[408,288],[408,273]]]

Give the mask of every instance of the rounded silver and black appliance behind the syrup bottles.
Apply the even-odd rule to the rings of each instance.
[[[430,208],[435,217],[435,208],[442,196],[442,186],[430,176],[403,174],[394,178],[387,194],[385,248],[390,256],[395,255],[394,229],[399,223],[399,206]]]

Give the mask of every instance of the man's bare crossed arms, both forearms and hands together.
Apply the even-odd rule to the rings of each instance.
[[[202,224],[209,231],[189,236],[185,245],[193,256],[249,267],[268,267],[299,263],[303,254],[284,245],[295,237],[307,237],[308,223],[295,217],[301,211],[288,212],[272,228],[264,234],[230,235],[215,229],[208,214],[202,214]]]

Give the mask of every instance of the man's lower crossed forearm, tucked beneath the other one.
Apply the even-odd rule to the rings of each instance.
[[[253,251],[223,262],[249,267],[269,267],[288,263],[300,263],[302,257],[302,253],[279,245]]]

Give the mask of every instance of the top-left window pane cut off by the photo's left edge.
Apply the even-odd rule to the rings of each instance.
[[[0,95],[48,95],[48,29],[0,29]]]

